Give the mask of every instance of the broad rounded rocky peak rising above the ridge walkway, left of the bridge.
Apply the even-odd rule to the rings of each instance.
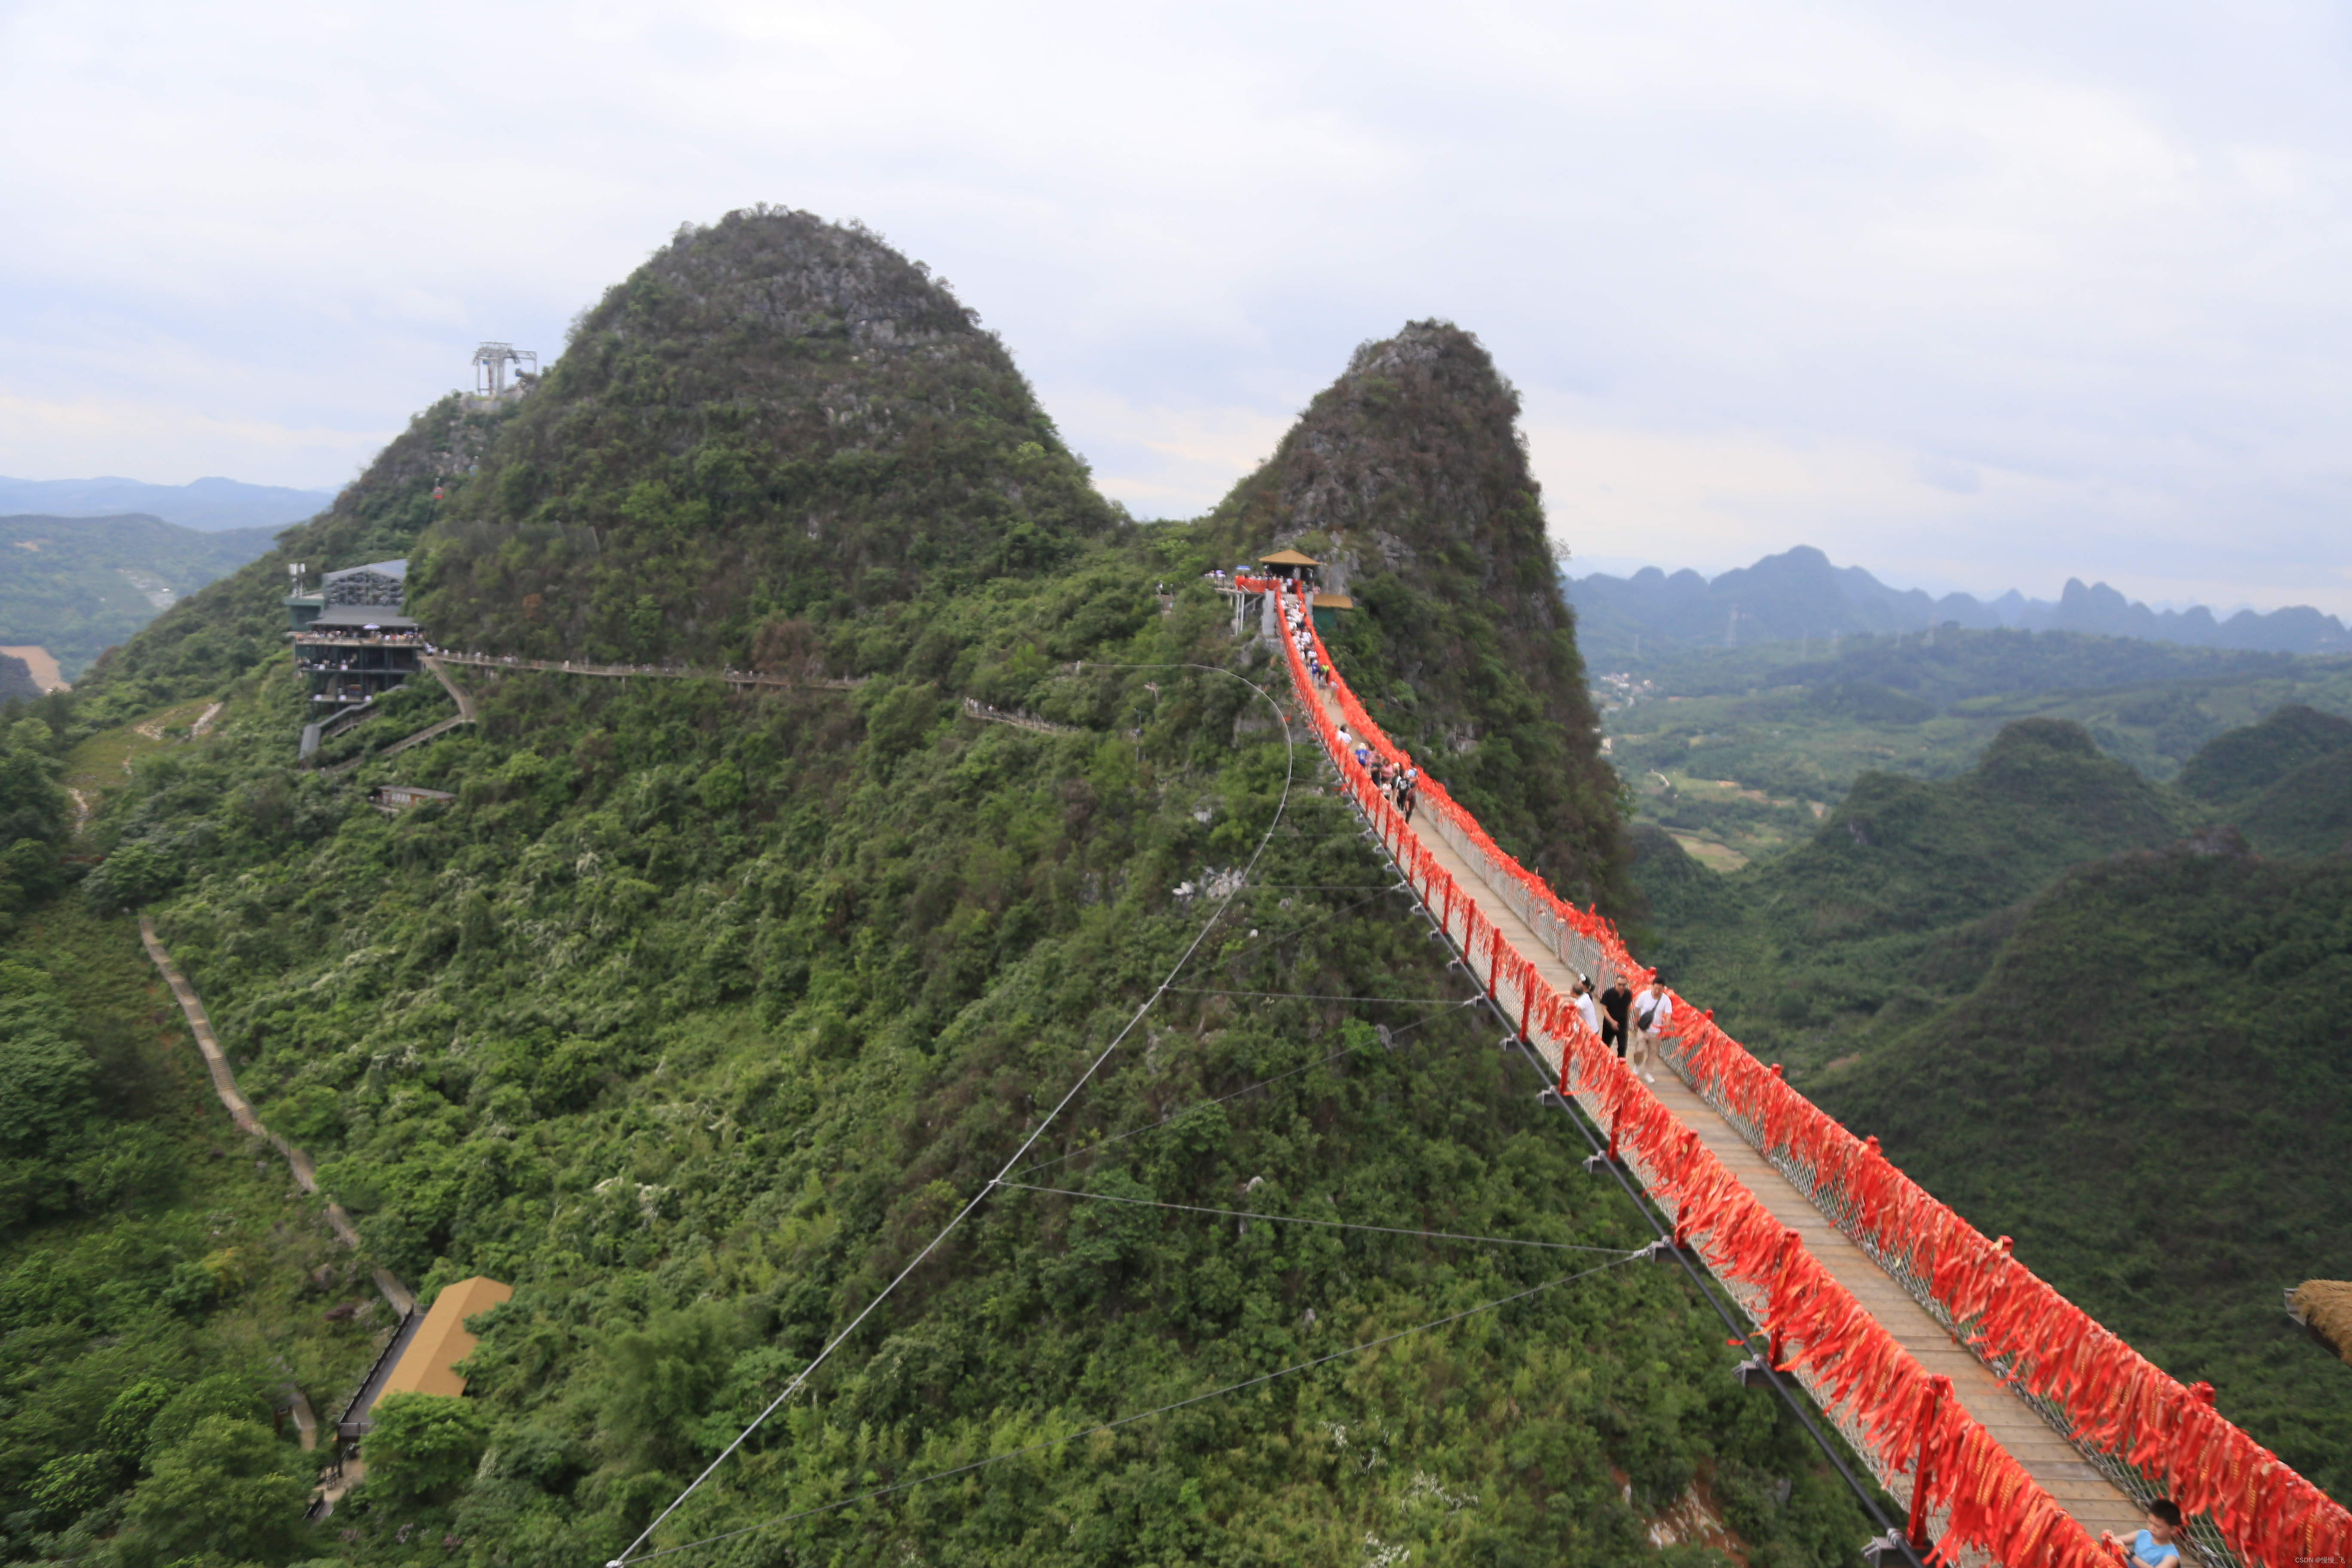
[[[449,639],[699,661],[1115,522],[941,280],[767,207],[682,228],[586,310],[447,517],[421,576]]]

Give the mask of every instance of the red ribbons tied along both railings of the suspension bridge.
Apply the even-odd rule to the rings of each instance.
[[[1284,585],[1272,578],[1237,583],[1284,602]],[[1303,595],[1298,604],[1305,609]],[[1317,658],[1334,672],[1334,696],[1357,743],[1402,766],[1404,752],[1338,679],[1312,618],[1301,621]],[[1797,1232],[1773,1220],[1698,1135],[1613,1051],[1602,1048],[1576,1009],[1503,938],[1470,889],[1458,886],[1423,849],[1352,752],[1338,745],[1305,661],[1287,635],[1284,651],[1291,684],[1305,698],[1348,792],[1392,846],[1423,903],[1439,912],[1472,973],[1491,990],[1508,978],[1522,999],[1524,1027],[1562,1053],[1564,1084],[1599,1100],[1613,1147],[1637,1161],[1651,1192],[1672,1206],[1677,1234],[1696,1241],[1719,1276],[1762,1295],[1773,1347],[1797,1347],[1788,1366],[1806,1368],[1823,1401],[1849,1410],[1889,1472],[1910,1474],[1926,1460],[1926,1507],[1947,1514],[1943,1544],[1980,1547],[2004,1563],[2105,1563],[2082,1526],[1957,1399],[1931,1396],[1926,1371],[1820,1267]],[[1649,978],[1651,971],[1632,959],[1613,924],[1562,903],[1541,877],[1503,853],[1444,785],[1423,778],[1421,795],[1498,875],[1522,886],[1534,907],[1595,943],[1604,966],[1628,980]],[[1879,1154],[1875,1138],[1853,1138],[1757,1063],[1715,1025],[1712,1013],[1696,1013],[1682,997],[1675,1001],[1670,1034],[1689,1048],[1698,1091],[1743,1119],[1766,1154],[1780,1152],[1809,1171],[1813,1201],[1889,1269],[1924,1281],[1929,1300],[1955,1331],[1985,1361],[2006,1366],[2013,1382],[2058,1403],[2079,1441],[2117,1453],[2164,1483],[2185,1514],[2211,1516],[2246,1561],[2286,1568],[2352,1554],[2352,1514],[2223,1420],[2211,1392],[2199,1396],[2180,1387],[2004,1246],[1929,1197]]]

